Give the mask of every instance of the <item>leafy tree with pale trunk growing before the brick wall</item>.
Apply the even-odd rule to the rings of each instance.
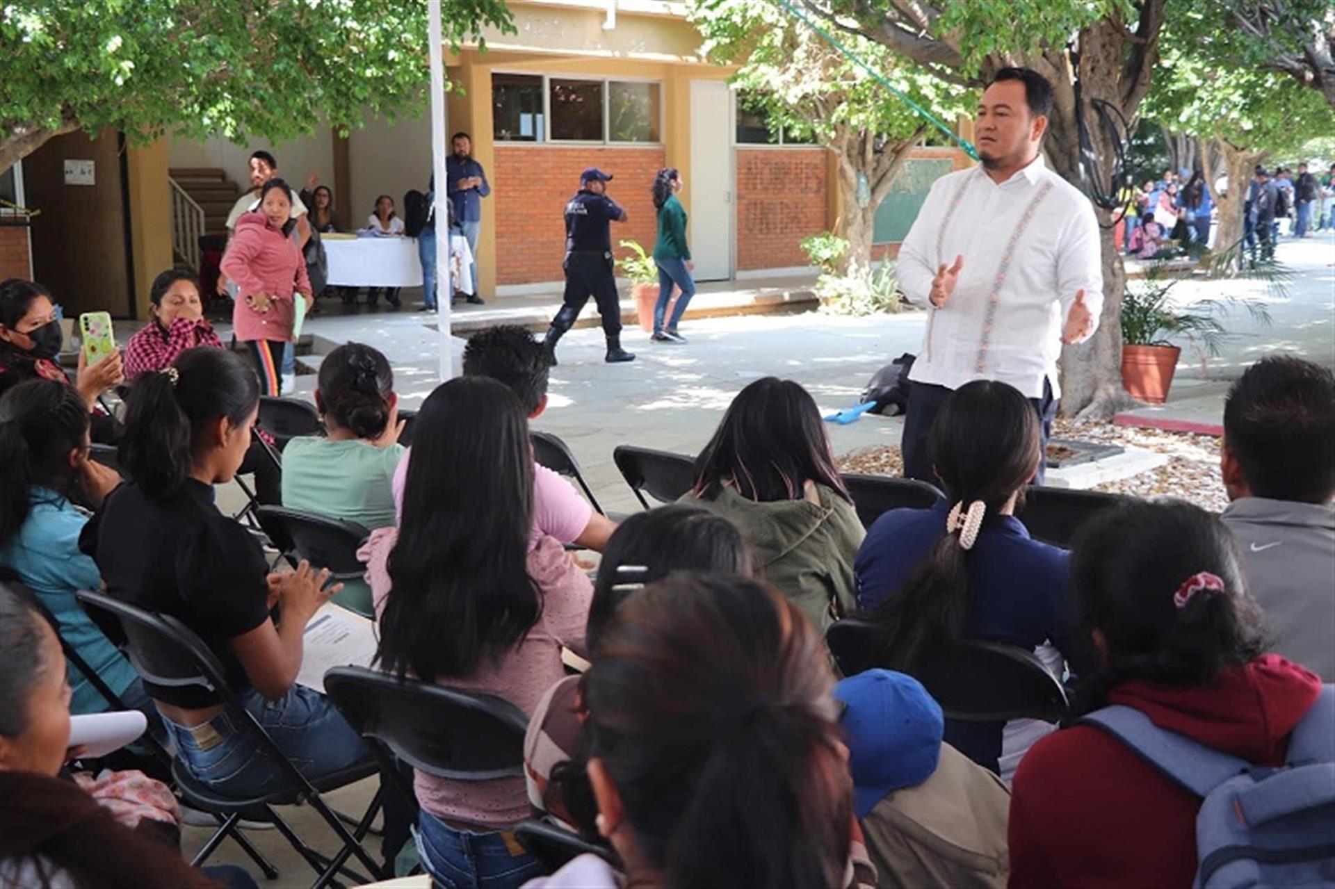
[[[710,60],[741,65],[732,83],[745,91],[749,105],[762,111],[770,127],[833,150],[844,207],[837,234],[849,242],[837,271],[868,280],[876,208],[921,141],[926,120],[769,3],[696,0],[690,17],[705,37]],[[925,75],[877,43],[846,40],[896,89],[937,117],[953,123],[964,112],[967,89]]]

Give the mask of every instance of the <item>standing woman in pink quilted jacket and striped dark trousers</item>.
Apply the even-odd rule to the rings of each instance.
[[[292,190],[270,179],[259,192],[259,210],[236,220],[236,232],[223,256],[223,274],[240,287],[232,307],[232,331],[250,343],[264,395],[279,395],[283,344],[292,339],[294,300],[306,308],[315,299],[306,260],[291,236]]]

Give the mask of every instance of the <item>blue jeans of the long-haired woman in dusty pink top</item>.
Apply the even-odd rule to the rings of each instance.
[[[415,834],[422,864],[445,889],[518,889],[542,876],[538,860],[522,849],[511,852],[497,830],[457,830],[422,810]]]

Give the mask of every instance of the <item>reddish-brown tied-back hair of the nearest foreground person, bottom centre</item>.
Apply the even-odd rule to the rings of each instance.
[[[820,634],[773,590],[677,577],[613,615],[585,675],[589,756],[669,886],[841,885],[853,824]]]

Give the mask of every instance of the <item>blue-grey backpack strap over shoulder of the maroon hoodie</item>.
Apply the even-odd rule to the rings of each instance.
[[[1095,725],[1119,738],[1145,762],[1202,798],[1251,768],[1246,760],[1160,729],[1135,707],[1103,707],[1089,713],[1079,723]]]

